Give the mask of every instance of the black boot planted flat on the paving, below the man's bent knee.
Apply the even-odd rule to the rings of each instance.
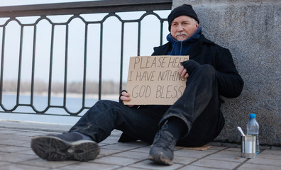
[[[168,130],[165,130],[167,129],[165,128],[167,125],[163,126],[155,135],[148,159],[157,164],[171,165],[172,159],[174,158],[176,140]]]

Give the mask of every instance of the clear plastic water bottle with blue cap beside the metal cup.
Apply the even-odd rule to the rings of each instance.
[[[255,135],[256,143],[255,143],[255,155],[260,153],[260,144],[258,142],[258,122],[255,120],[255,114],[250,114],[250,120],[247,123],[247,134]]]

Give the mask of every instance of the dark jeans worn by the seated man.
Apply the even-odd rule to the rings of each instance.
[[[152,143],[159,125],[175,116],[182,119],[188,129],[177,145],[205,145],[224,127],[215,74],[210,65],[200,66],[189,76],[184,94],[172,106],[130,108],[115,101],[98,101],[70,132],[82,132],[101,142],[117,129],[136,140]]]

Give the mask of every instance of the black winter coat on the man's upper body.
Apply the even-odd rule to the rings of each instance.
[[[167,55],[171,49],[172,44],[167,42],[165,45],[155,47],[153,55]],[[236,98],[241,94],[244,82],[236,70],[228,49],[216,45],[201,35],[185,55],[189,55],[189,60],[199,64],[210,64],[216,69],[220,96]]]

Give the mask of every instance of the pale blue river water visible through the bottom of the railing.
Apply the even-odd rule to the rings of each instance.
[[[105,98],[106,99],[106,98]],[[113,101],[117,101],[116,98],[111,98]],[[86,98],[85,106],[91,107],[98,101],[97,98]],[[30,104],[31,96],[21,95],[19,104]],[[50,100],[51,106],[63,106],[63,97],[56,96],[52,97]],[[80,116],[87,112],[88,109],[84,109],[82,113],[78,116],[70,116],[63,108],[49,108],[46,111],[47,114],[41,115],[36,114],[35,111],[29,106],[18,106],[13,113],[4,113],[4,108],[11,110],[16,106],[16,95],[14,94],[4,94],[1,98],[0,106],[0,120],[11,120],[11,121],[22,121],[30,123],[54,123],[61,125],[74,125]],[[44,111],[48,106],[47,96],[34,96],[33,106],[38,111]],[[68,97],[66,100],[66,108],[75,113],[82,108],[82,98],[79,97]],[[4,108],[2,108],[4,107]],[[21,114],[26,113],[26,114]],[[56,115],[48,115],[56,114]]]

